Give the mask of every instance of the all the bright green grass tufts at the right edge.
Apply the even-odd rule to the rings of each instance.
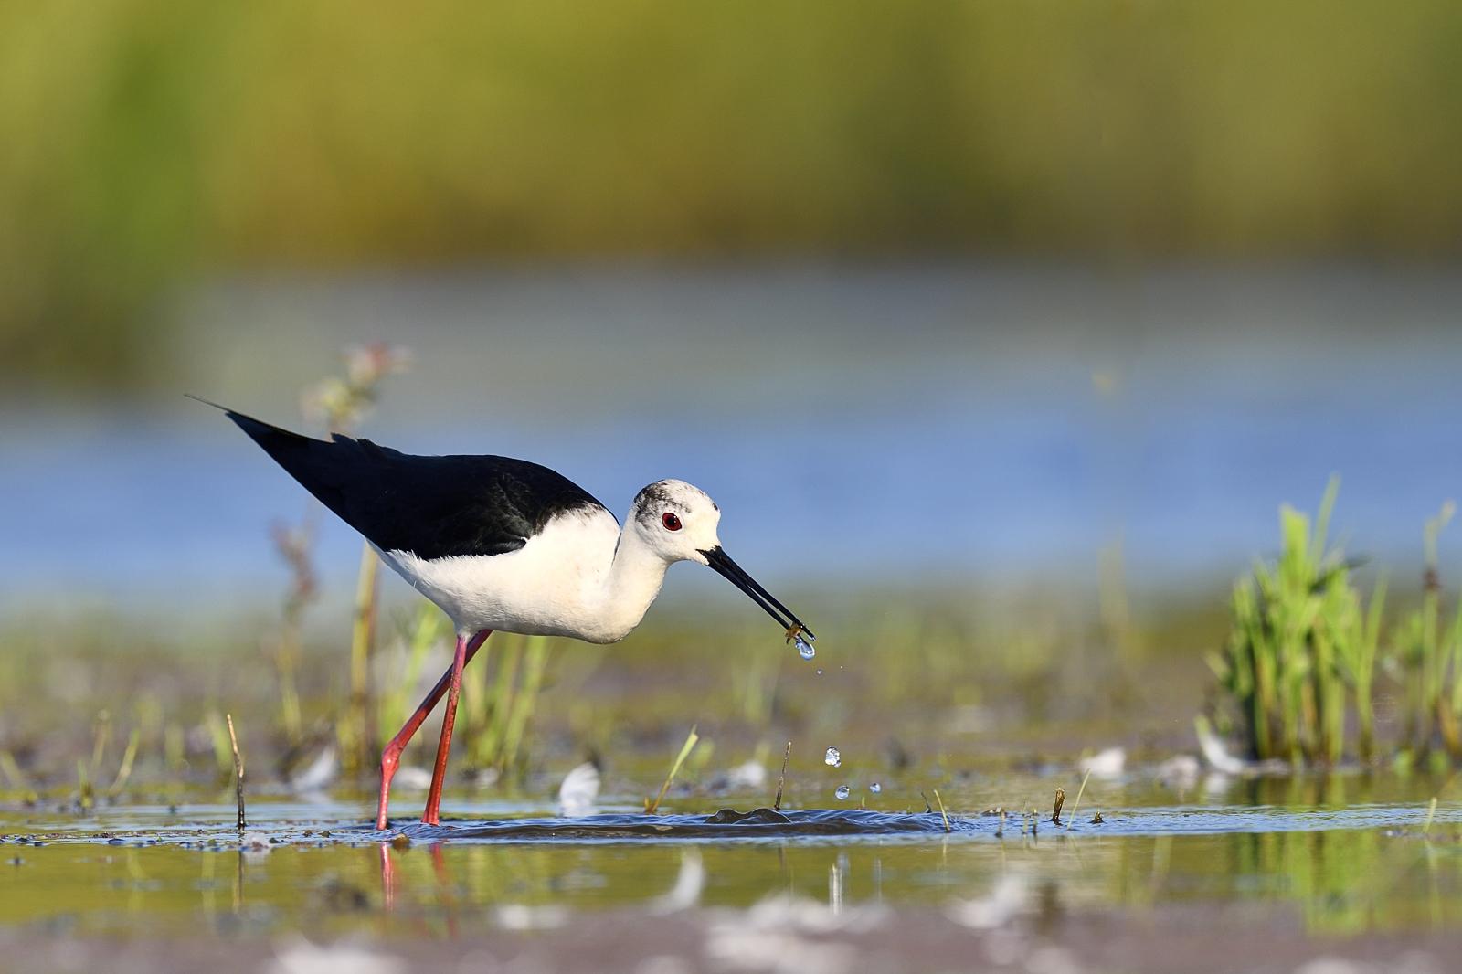
[[[1211,658],[1224,692],[1221,717],[1254,759],[1333,765],[1349,755],[1402,763],[1444,753],[1462,762],[1462,605],[1443,620],[1437,537],[1453,506],[1425,524],[1421,604],[1383,636],[1386,578],[1370,595],[1357,565],[1329,545],[1339,481],[1311,519],[1279,510],[1281,554],[1234,586],[1222,654]],[[1377,676],[1401,690],[1401,728],[1380,749]],[[1354,749],[1347,747],[1354,728]],[[1440,746],[1440,752],[1437,750]]]

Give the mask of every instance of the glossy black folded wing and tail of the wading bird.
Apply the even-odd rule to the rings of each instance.
[[[225,412],[382,551],[414,551],[423,559],[506,554],[557,513],[604,507],[567,477],[528,461],[412,456],[338,433],[326,443]]]

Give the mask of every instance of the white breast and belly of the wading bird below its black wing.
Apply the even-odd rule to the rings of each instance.
[[[411,551],[382,551],[404,579],[442,607],[459,632],[494,629],[544,636],[613,642],[605,626],[604,591],[620,525],[598,509],[551,519],[507,554],[418,559]]]

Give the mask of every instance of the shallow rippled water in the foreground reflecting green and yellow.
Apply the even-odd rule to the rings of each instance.
[[[1004,898],[1032,918],[1174,904],[1268,902],[1314,932],[1462,923],[1462,804],[1439,782],[1396,778],[1231,781],[1190,796],[1142,775],[1091,782],[1067,825],[1001,818],[978,796],[1035,779],[942,788],[959,813],[787,810],[749,822],[629,807],[560,819],[534,801],[447,801],[439,828],[401,816],[368,828],[367,800],[250,804],[241,848],[228,804],[111,807],[94,816],[0,813],[0,923],[44,932],[253,930],[332,936],[557,926],[602,910],[747,908],[769,896],[832,910],[962,910]],[[1099,797],[1102,825],[1092,825]],[[921,806],[921,803],[920,803]],[[779,816],[778,816],[779,818]],[[1035,820],[1035,829],[1031,825]],[[263,842],[260,842],[263,838]],[[1013,888],[1015,894],[1010,894]],[[963,907],[961,904],[965,904]]]

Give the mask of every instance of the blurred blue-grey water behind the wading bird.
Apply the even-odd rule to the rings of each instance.
[[[1332,472],[1354,551],[1411,566],[1421,522],[1462,478],[1462,455],[1436,449],[1459,405],[1459,295],[1446,271],[1348,265],[221,284],[186,312],[187,361],[146,401],[0,396],[15,553],[0,605],[73,586],[168,603],[273,591],[268,526],[304,496],[181,393],[298,424],[298,390],[341,345],[377,338],[418,364],[387,383],[368,436],[526,456],[621,515],[648,480],[684,477],[718,499],[724,540],[768,585],[1085,572],[1117,538],[1135,581],[1227,576],[1272,550],[1281,502],[1313,506]],[[911,497],[939,529],[909,529]],[[354,591],[358,550],[320,524],[327,586]],[[1442,559],[1446,575],[1455,554]]]

